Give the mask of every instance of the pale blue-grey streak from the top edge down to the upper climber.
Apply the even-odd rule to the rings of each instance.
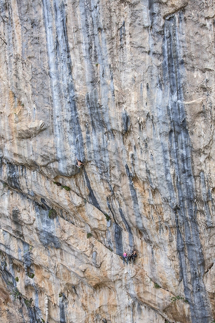
[[[58,167],[60,172],[68,175],[67,168],[70,167],[69,171],[73,173],[75,165],[70,166],[70,156],[65,157],[65,151],[71,151],[72,160],[74,156],[84,160],[84,150],[75,103],[65,6],[58,0],[54,0],[53,4],[49,0],[42,0],[42,4],[52,91],[54,137],[60,161]]]

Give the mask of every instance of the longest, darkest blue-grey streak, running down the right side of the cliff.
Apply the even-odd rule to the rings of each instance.
[[[211,313],[207,294],[202,280],[204,273],[204,258],[196,222],[196,207],[194,203],[195,187],[191,166],[191,143],[186,128],[186,119],[182,93],[181,46],[183,16],[178,13],[166,19],[163,38],[163,76],[165,96],[169,97],[167,113],[170,131],[168,143],[163,136],[159,120],[160,135],[163,147],[163,161],[173,167],[176,181],[171,178],[166,165],[166,181],[169,196],[174,204],[175,223],[177,231],[177,251],[180,261],[181,278],[183,279],[184,294],[189,301],[191,321],[208,323]],[[181,39],[180,39],[181,38]],[[166,146],[168,145],[168,151]],[[166,156],[168,154],[169,156]],[[175,183],[175,184],[174,184]],[[174,190],[175,188],[175,190]],[[173,197],[173,198],[172,198]],[[188,261],[187,261],[188,259]],[[188,265],[188,266],[187,266]],[[188,278],[190,276],[190,279]]]

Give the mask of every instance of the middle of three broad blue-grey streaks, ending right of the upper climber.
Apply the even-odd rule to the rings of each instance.
[[[115,118],[111,118],[109,106],[115,107],[112,93],[112,70],[109,64],[107,41],[102,28],[102,15],[100,17],[100,4],[97,1],[79,1],[82,51],[85,65],[85,78],[87,84],[86,106],[91,123],[91,145],[87,142],[88,158],[94,159],[99,174],[109,179],[108,141],[113,140],[112,128]],[[111,100],[110,100],[111,98]],[[112,124],[111,124],[112,123]],[[88,130],[87,130],[88,132]],[[87,135],[87,139],[88,139]]]

